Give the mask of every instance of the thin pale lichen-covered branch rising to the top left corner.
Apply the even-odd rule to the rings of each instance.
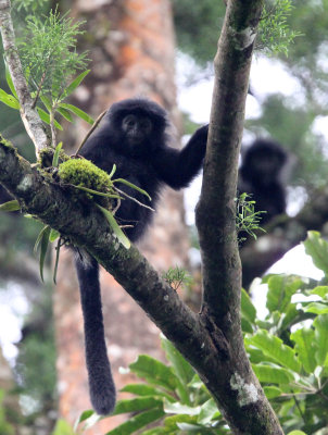
[[[10,0],[0,0],[0,30],[8,67],[21,104],[21,116],[36,151],[49,146],[46,130],[28,91],[21,60],[15,45],[15,33],[10,14]]]

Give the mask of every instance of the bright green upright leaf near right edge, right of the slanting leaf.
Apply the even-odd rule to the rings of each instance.
[[[313,373],[317,366],[315,359],[314,347],[314,331],[311,328],[302,327],[290,335],[290,338],[295,343],[295,351],[299,355],[299,360],[302,362],[304,370],[307,373]]]

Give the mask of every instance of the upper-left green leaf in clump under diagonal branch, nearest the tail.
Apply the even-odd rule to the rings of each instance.
[[[173,370],[147,355],[140,355],[138,360],[133,362],[129,368],[138,376],[143,377],[153,385],[160,385],[169,391],[175,391],[177,387],[178,378],[173,373]]]

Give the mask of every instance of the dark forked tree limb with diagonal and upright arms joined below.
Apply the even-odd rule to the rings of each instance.
[[[262,0],[228,1],[215,58],[209,150],[197,212],[204,263],[201,314],[188,309],[136,247],[127,250],[118,244],[96,207],[86,215],[83,203],[0,139],[0,183],[23,211],[87,249],[122,284],[194,366],[234,434],[240,435],[282,434],[243,348],[235,234],[237,161],[261,9]],[[0,25],[5,25],[3,20]]]

